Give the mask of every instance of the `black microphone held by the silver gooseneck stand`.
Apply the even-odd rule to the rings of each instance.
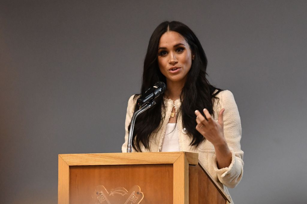
[[[146,104],[147,102],[156,99],[158,96],[160,96],[162,93],[164,93],[166,89],[166,85],[162,81],[156,82],[153,87],[149,88],[144,95],[142,95],[138,100],[137,104],[139,106]]]

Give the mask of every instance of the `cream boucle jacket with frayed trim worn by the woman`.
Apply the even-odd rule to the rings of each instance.
[[[134,112],[134,105],[136,104],[137,99],[133,99],[134,96],[131,96],[128,101],[126,122],[125,122],[125,143],[122,145],[122,152],[126,152],[127,141],[128,141],[128,126],[131,121],[131,117]],[[232,154],[232,160],[229,167],[219,169],[216,163],[216,154],[214,146],[211,142],[205,140],[198,147],[191,146],[191,138],[188,136],[188,133],[184,131],[182,127],[182,116],[178,115],[177,119],[177,128],[178,128],[178,139],[179,139],[179,148],[180,151],[185,152],[194,152],[198,153],[198,159],[200,163],[208,170],[211,176],[217,181],[223,184],[225,192],[229,195],[226,187],[235,187],[241,180],[243,175],[243,151],[241,150],[240,139],[242,134],[240,115],[235,103],[233,94],[228,91],[221,91],[216,95],[219,99],[214,100],[213,117],[217,121],[219,112],[222,108],[225,108],[223,114],[224,120],[224,136],[229,146],[229,149]],[[173,101],[170,99],[164,98],[165,109],[162,109],[162,116],[165,112],[165,118],[161,121],[161,128],[158,131],[154,131],[152,134],[153,139],[150,141],[150,151],[159,152],[161,149],[161,144],[166,130],[166,125],[169,121],[171,111],[173,109]],[[174,101],[175,109],[178,110],[181,106],[180,100]],[[149,152],[149,149],[145,149],[141,144],[142,152]],[[226,187],[225,187],[226,186]],[[233,202],[231,202],[233,203]]]

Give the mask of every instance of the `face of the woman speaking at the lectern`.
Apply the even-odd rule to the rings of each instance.
[[[158,64],[166,82],[185,83],[192,65],[190,46],[178,32],[165,32],[159,41]]]

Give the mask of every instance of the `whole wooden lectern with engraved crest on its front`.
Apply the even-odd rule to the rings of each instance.
[[[197,153],[59,154],[58,204],[90,203],[228,204],[230,198]]]

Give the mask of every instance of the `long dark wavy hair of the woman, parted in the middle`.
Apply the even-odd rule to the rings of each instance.
[[[187,80],[181,91],[181,107],[176,111],[182,114],[182,125],[187,129],[189,133],[187,135],[192,137],[190,145],[198,146],[205,138],[195,129],[197,123],[194,111],[207,108],[210,114],[213,114],[213,100],[218,99],[216,94],[221,89],[218,89],[218,92],[213,94],[217,88],[210,85],[206,78],[207,57],[196,35],[188,26],[178,21],[165,21],[153,31],[144,60],[141,93],[136,94],[134,97],[139,97],[144,94],[157,81],[163,81],[167,87],[166,78],[160,72],[158,66],[159,41],[161,36],[167,31],[174,31],[181,34],[194,55],[191,69],[188,72]],[[152,132],[158,131],[165,119],[163,95],[156,99],[156,103],[153,108],[140,114],[135,121],[132,146],[136,151],[141,151],[141,143],[146,149],[150,149],[149,141]],[[139,108],[138,105],[135,105],[134,112]],[[128,130],[130,131],[130,125]]]

